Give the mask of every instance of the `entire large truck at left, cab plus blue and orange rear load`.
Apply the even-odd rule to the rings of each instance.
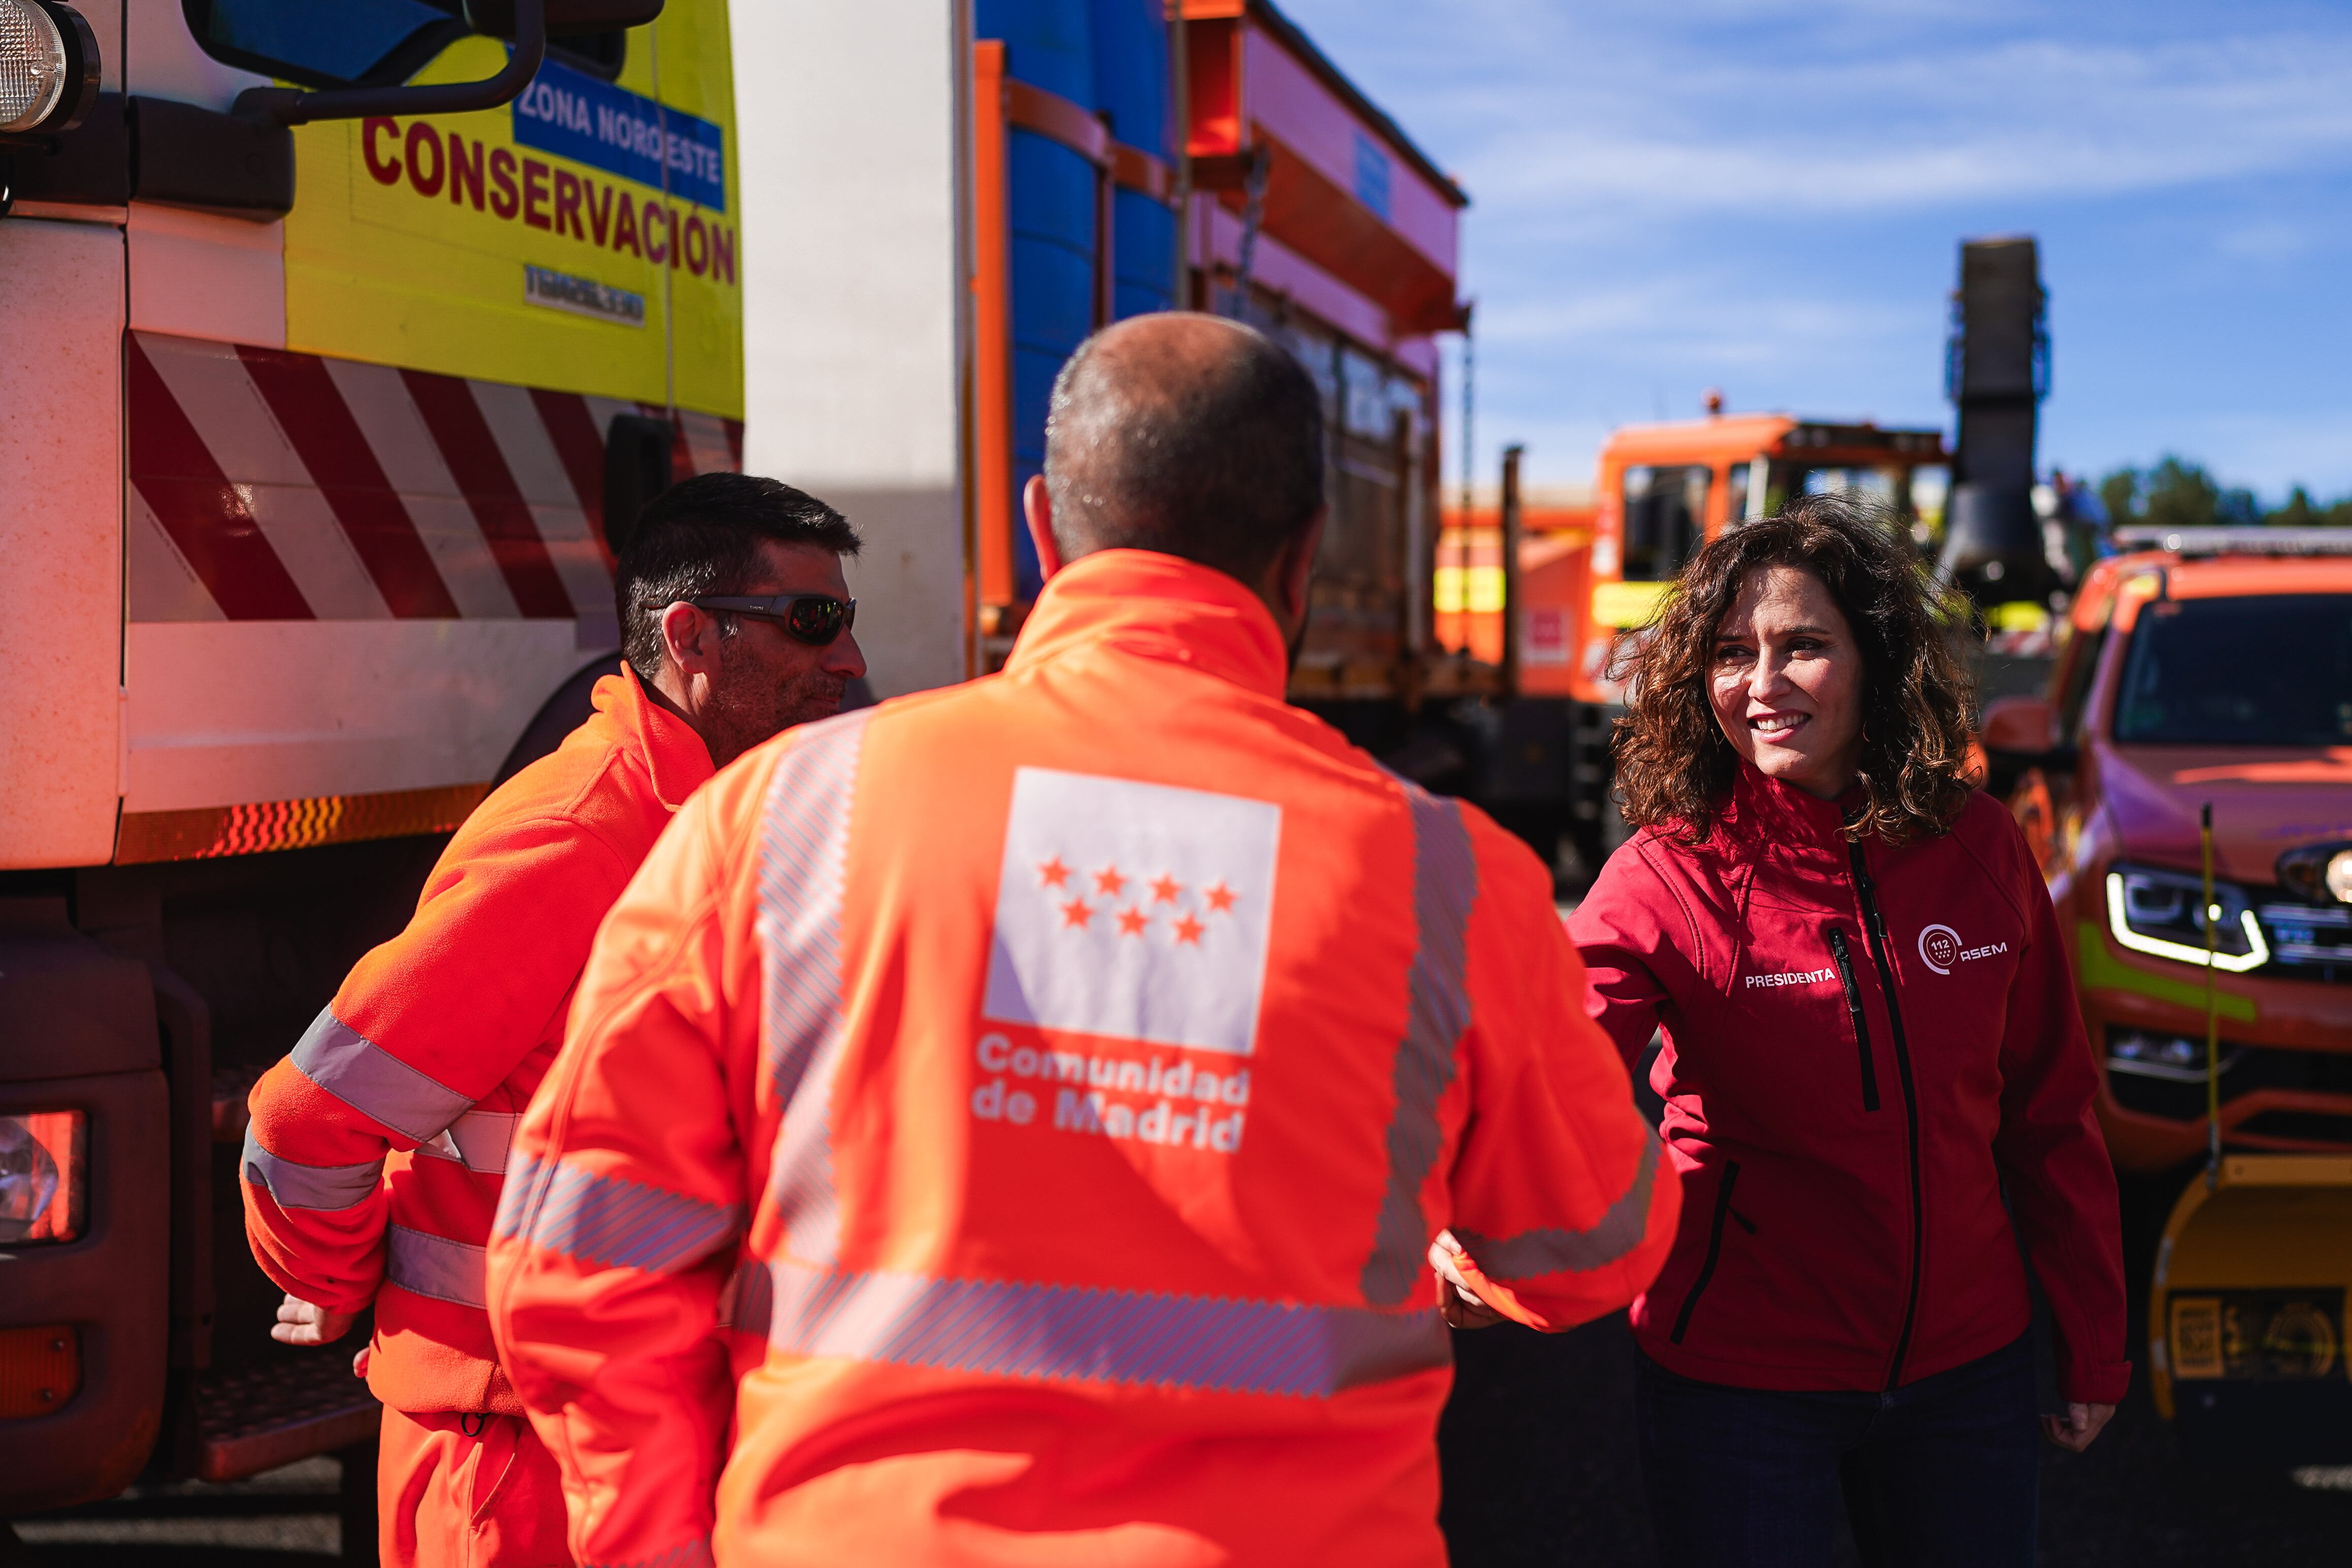
[[[586,717],[637,508],[866,534],[875,696],[1002,661],[1044,393],[1251,320],[1327,395],[1296,691],[1402,708],[1468,200],[1263,0],[0,0],[0,1519],[346,1453],[245,1093]]]

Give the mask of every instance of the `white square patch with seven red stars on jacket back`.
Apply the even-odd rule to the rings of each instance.
[[[1249,1056],[1282,806],[1021,769],[983,1013]]]

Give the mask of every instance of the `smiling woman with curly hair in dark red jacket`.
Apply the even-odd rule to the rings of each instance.
[[[2065,940],[1962,776],[1969,686],[1910,541],[1802,496],[1684,567],[1569,919],[1689,1220],[1632,1328],[1661,1559],[2034,1561],[2023,1255],[2084,1448],[2129,1380],[2114,1175]],[[1700,1222],[1698,1215],[1712,1213]],[[1933,1559],[1926,1554],[1933,1549]]]

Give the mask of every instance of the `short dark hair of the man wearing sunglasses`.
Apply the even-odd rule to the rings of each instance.
[[[612,574],[621,658],[640,679],[661,675],[661,611],[748,590],[769,541],[835,555],[856,555],[866,543],[816,496],[748,473],[694,475],[644,503]],[[731,616],[720,616],[720,632],[734,635]]]

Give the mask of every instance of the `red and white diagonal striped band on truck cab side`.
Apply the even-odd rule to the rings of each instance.
[[[132,331],[129,621],[609,621],[604,433],[670,418],[673,473],[743,425],[496,381]]]

